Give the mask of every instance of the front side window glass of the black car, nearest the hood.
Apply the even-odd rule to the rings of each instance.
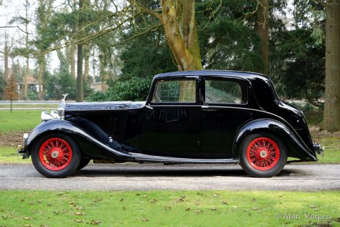
[[[152,97],[153,103],[195,103],[195,79],[164,79],[157,81]]]

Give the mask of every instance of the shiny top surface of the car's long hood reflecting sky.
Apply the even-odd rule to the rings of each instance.
[[[129,110],[142,108],[145,101],[98,101],[66,103],[65,111]]]

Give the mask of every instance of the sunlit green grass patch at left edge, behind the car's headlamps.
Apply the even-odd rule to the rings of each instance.
[[[29,132],[41,123],[41,110],[0,110],[0,132]]]

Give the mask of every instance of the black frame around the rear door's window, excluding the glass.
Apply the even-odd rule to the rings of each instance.
[[[243,99],[243,96],[246,98],[246,102],[244,103],[207,103],[205,101],[205,85],[206,80],[215,80],[215,81],[229,81],[233,83],[237,83],[241,88],[241,99]],[[233,77],[223,77],[223,76],[203,76],[202,78],[202,104],[204,106],[248,106],[249,103],[249,86],[245,79],[240,78],[233,78]]]

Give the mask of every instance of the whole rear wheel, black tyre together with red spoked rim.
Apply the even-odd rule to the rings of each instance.
[[[258,146],[258,143],[266,145]],[[286,146],[275,135],[268,133],[248,135],[240,146],[240,164],[243,170],[253,177],[273,177],[281,172],[286,161]]]

